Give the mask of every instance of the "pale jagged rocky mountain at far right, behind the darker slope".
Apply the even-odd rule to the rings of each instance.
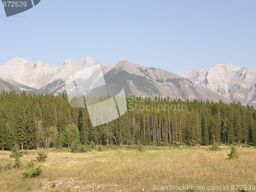
[[[233,101],[256,106],[256,72],[253,69],[218,64],[208,70],[193,70],[181,74],[182,77]]]

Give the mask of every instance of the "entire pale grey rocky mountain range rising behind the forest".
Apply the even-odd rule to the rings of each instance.
[[[84,68],[100,65],[106,83],[122,84],[125,95],[169,96],[224,102],[240,101],[256,106],[256,72],[226,63],[209,70],[193,70],[181,76],[161,69],[143,67],[130,61],[119,61],[105,67],[89,56],[84,62],[66,60],[61,67],[42,61],[31,63],[14,58],[0,66],[0,91],[14,90],[35,94],[58,95],[66,91],[66,79]]]

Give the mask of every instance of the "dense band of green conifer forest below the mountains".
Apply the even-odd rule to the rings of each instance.
[[[101,145],[256,145],[256,111],[241,103],[126,98],[120,118],[92,127],[86,108],[72,108],[65,95],[0,95],[0,149]]]

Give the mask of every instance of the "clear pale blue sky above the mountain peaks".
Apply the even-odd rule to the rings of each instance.
[[[256,1],[41,0],[6,17],[0,66],[15,57],[61,66],[88,55],[181,74],[218,63],[256,70]]]

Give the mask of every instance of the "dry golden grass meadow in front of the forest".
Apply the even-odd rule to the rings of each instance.
[[[153,185],[256,185],[255,148],[238,148],[236,160],[228,159],[230,148],[144,149],[103,147],[101,152],[80,154],[47,150],[47,161],[36,163],[42,166],[41,176],[24,180],[24,168],[5,170],[0,172],[0,191],[153,191]],[[9,155],[0,152],[0,164],[11,160]],[[29,152],[22,163],[36,155]]]

